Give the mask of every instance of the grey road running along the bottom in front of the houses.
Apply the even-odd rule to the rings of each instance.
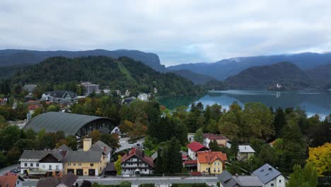
[[[119,184],[122,181],[130,181],[132,186],[138,186],[141,183],[155,183],[161,185],[167,185],[171,183],[208,183],[216,185],[217,178],[215,176],[211,177],[187,177],[181,179],[180,177],[141,177],[141,178],[127,178],[127,179],[118,179],[118,178],[106,178],[106,179],[88,179],[89,181],[101,183],[101,184]],[[78,179],[80,184],[83,179]],[[23,186],[37,186],[37,180],[31,179],[30,181],[24,181]]]

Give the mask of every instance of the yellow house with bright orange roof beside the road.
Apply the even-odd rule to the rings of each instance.
[[[226,154],[222,152],[197,152],[197,171],[204,174],[221,174],[226,160]]]

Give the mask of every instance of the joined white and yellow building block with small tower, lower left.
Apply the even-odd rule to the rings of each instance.
[[[63,176],[98,176],[110,161],[112,149],[103,142],[92,145],[91,139],[83,140],[83,151],[72,151],[62,145],[54,150],[25,150],[21,162],[21,174]]]

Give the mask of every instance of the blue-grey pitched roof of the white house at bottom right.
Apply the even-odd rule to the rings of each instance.
[[[277,176],[281,175],[277,169],[274,169],[273,166],[269,164],[265,164],[261,166],[259,169],[255,170],[252,174],[258,176],[262,183],[266,184]]]

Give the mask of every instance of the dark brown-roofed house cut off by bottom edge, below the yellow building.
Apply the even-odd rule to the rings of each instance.
[[[44,186],[72,187],[72,186],[76,186],[75,183],[77,179],[78,176],[72,173],[66,174],[62,178],[58,178],[58,177],[41,178],[37,183],[37,187],[44,187]]]

